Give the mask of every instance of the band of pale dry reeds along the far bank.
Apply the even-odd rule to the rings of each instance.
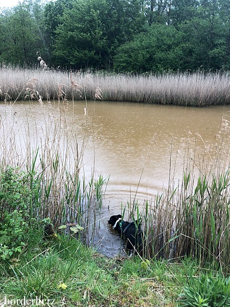
[[[28,80],[37,80],[43,99],[95,99],[100,88],[104,100],[142,103],[207,106],[230,103],[228,72],[166,73],[163,75],[68,73],[63,71],[0,69],[0,98],[6,101],[25,99]],[[82,95],[84,92],[84,95]]]

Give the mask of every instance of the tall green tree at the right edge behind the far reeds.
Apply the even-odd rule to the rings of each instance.
[[[184,69],[219,70],[226,64],[228,26],[220,17],[220,2],[201,1],[196,17],[184,21],[179,29],[185,34]]]

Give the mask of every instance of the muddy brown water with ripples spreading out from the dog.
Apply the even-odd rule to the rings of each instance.
[[[44,114],[57,102],[41,106],[17,102],[2,103],[2,122],[26,120],[30,131],[42,133]],[[177,157],[175,180],[182,178],[183,150],[195,143],[197,154],[217,142],[223,116],[228,119],[230,106],[206,108],[139,103],[75,101],[65,106],[66,121],[81,146],[86,131],[84,173],[91,177],[93,169],[109,181],[101,210],[100,229],[95,243],[108,256],[122,251],[121,240],[107,221],[110,215],[121,213],[121,207],[135,198],[140,204],[152,199],[166,188],[169,180],[170,155]],[[60,107],[63,112],[63,107]],[[36,121],[36,126],[34,122]],[[87,128],[86,128],[87,126]],[[40,129],[38,128],[40,127]],[[23,129],[22,129],[23,130]],[[40,132],[39,132],[40,131]],[[21,139],[20,139],[21,142]],[[173,159],[171,159],[173,160]],[[122,252],[123,253],[123,252]]]

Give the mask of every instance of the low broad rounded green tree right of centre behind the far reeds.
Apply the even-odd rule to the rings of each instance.
[[[182,34],[173,26],[152,25],[119,48],[114,68],[129,72],[164,72],[180,68]]]

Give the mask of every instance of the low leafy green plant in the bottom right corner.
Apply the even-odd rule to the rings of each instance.
[[[192,277],[189,285],[182,288],[180,306],[228,307],[230,306],[230,277],[214,277],[201,274]]]

